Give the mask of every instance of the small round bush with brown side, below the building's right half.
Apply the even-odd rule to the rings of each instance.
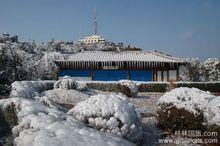
[[[138,94],[138,86],[130,80],[120,80],[119,92],[127,95],[128,97],[135,97]]]

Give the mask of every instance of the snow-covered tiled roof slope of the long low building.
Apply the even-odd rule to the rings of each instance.
[[[155,51],[84,51],[68,54],[67,61],[145,61],[145,62],[172,62],[183,63],[180,58],[169,56]],[[56,60],[59,61],[59,60]]]

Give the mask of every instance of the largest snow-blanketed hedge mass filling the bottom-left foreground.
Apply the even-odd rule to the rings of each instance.
[[[133,145],[125,139],[88,128],[73,116],[37,101],[22,98],[0,100],[2,110],[12,104],[18,117],[18,125],[12,130],[17,146]]]

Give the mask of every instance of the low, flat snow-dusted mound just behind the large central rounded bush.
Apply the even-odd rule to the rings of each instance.
[[[76,105],[78,102],[86,100],[89,98],[89,95],[76,91],[76,90],[67,90],[67,89],[53,89],[45,91],[44,96],[48,97],[50,100],[60,104]]]

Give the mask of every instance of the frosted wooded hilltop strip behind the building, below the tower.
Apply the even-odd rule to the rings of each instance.
[[[10,36],[8,33],[3,34],[0,37],[0,43],[15,43],[19,45],[31,46],[28,48],[28,51],[32,51],[32,49],[40,48],[42,51],[53,52],[79,52],[79,51],[140,51],[140,48],[131,47],[130,45],[124,46],[123,43],[117,44],[114,42],[100,42],[94,44],[86,44],[80,41],[77,42],[68,42],[68,41],[55,41],[52,39],[48,43],[35,44],[33,42],[19,42],[18,36]]]

